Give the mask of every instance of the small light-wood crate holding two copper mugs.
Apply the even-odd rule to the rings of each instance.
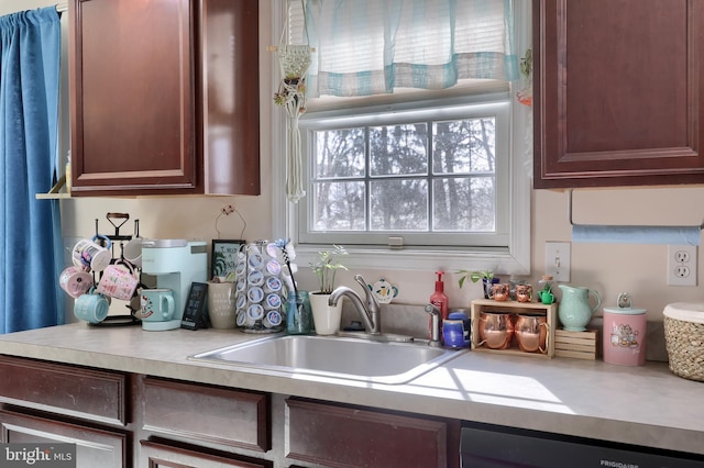
[[[538,358],[551,358],[554,356],[554,328],[557,326],[558,304],[543,304],[540,302],[518,302],[518,301],[495,301],[493,299],[475,299],[472,301],[472,349],[477,352],[501,353],[515,356],[527,356]],[[526,353],[520,350],[516,337],[512,341],[508,349],[492,349],[480,345],[479,324],[482,312],[510,312],[513,314],[530,313],[542,314],[548,323],[548,338],[544,353]]]

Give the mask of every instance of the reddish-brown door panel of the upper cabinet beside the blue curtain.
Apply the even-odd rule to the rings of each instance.
[[[74,194],[198,186],[188,0],[75,0]]]

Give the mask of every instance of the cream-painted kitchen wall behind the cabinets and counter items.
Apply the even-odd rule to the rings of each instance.
[[[19,9],[50,5],[41,0],[0,0],[0,14]],[[63,201],[64,233],[66,236],[89,236],[95,219],[100,226],[107,224],[108,212],[128,212],[140,219],[141,231],[147,237],[187,237],[210,241],[217,237],[215,221],[220,208],[234,204],[248,220],[244,237],[275,238],[272,232],[272,113],[278,110],[272,103],[273,89],[267,83],[278,73],[272,53],[265,46],[275,44],[277,34],[271,32],[268,1],[261,2],[261,151],[262,196],[228,198],[142,198],[142,199],[72,199]],[[66,22],[66,19],[63,20]],[[63,114],[64,115],[64,114]],[[67,113],[65,114],[67,115]],[[544,243],[571,241],[565,191],[538,190],[532,192],[531,280],[537,281],[544,270]],[[700,224],[704,219],[704,189],[702,187],[625,188],[609,190],[581,190],[574,194],[574,222],[598,224]],[[241,224],[235,215],[222,218],[218,224],[223,238],[239,237]],[[128,231],[129,232],[129,231]],[[526,233],[528,235],[528,233]],[[666,304],[675,301],[702,301],[703,287],[668,287],[666,280],[667,252],[664,245],[600,245],[573,244],[571,283],[600,291],[606,305],[614,305],[622,291],[629,291],[634,305],[648,309],[650,320],[661,321]],[[698,269],[702,268],[700,254]],[[436,265],[422,271],[366,270],[341,276],[341,282],[354,287],[351,276],[362,272],[373,282],[386,278],[400,289],[397,302],[425,303],[433,290]],[[306,268],[299,275],[304,288],[314,287],[312,276]],[[468,307],[480,294],[479,287],[459,290],[457,279],[448,275],[446,292],[452,307]],[[700,281],[700,285],[702,281]]]

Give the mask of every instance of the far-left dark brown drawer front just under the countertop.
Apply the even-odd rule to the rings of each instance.
[[[0,356],[0,401],[68,416],[127,425],[128,376]]]

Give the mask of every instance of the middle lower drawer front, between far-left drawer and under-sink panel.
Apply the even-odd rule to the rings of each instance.
[[[271,448],[266,393],[144,378],[144,430],[257,452]]]

